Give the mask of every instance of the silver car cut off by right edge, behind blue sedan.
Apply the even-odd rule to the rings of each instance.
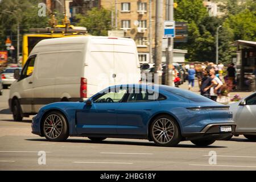
[[[256,140],[256,92],[230,104],[230,110],[237,124],[234,136],[244,135],[249,140]]]

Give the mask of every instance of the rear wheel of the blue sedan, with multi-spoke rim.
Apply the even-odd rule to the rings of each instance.
[[[181,140],[179,125],[169,115],[159,115],[150,125],[151,139],[157,146],[174,147]]]

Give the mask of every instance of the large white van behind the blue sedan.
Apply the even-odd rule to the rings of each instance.
[[[43,105],[80,101],[101,89],[141,79],[133,39],[75,36],[42,40],[32,49],[10,88],[14,120],[38,113]]]

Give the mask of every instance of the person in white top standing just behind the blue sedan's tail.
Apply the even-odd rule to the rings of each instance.
[[[210,99],[213,101],[217,101],[218,94],[220,94],[221,86],[223,82],[215,75],[215,71],[213,69],[210,70],[210,77],[212,78],[212,87],[210,88]]]

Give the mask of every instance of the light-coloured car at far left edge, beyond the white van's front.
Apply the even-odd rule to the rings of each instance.
[[[15,69],[19,69],[19,72],[22,70],[22,68],[20,68],[20,67],[10,67],[10,68],[6,68],[2,72],[1,77],[2,77],[2,87],[3,87],[3,89],[7,89],[8,86],[13,84],[13,82],[15,81],[15,78],[14,78]]]

